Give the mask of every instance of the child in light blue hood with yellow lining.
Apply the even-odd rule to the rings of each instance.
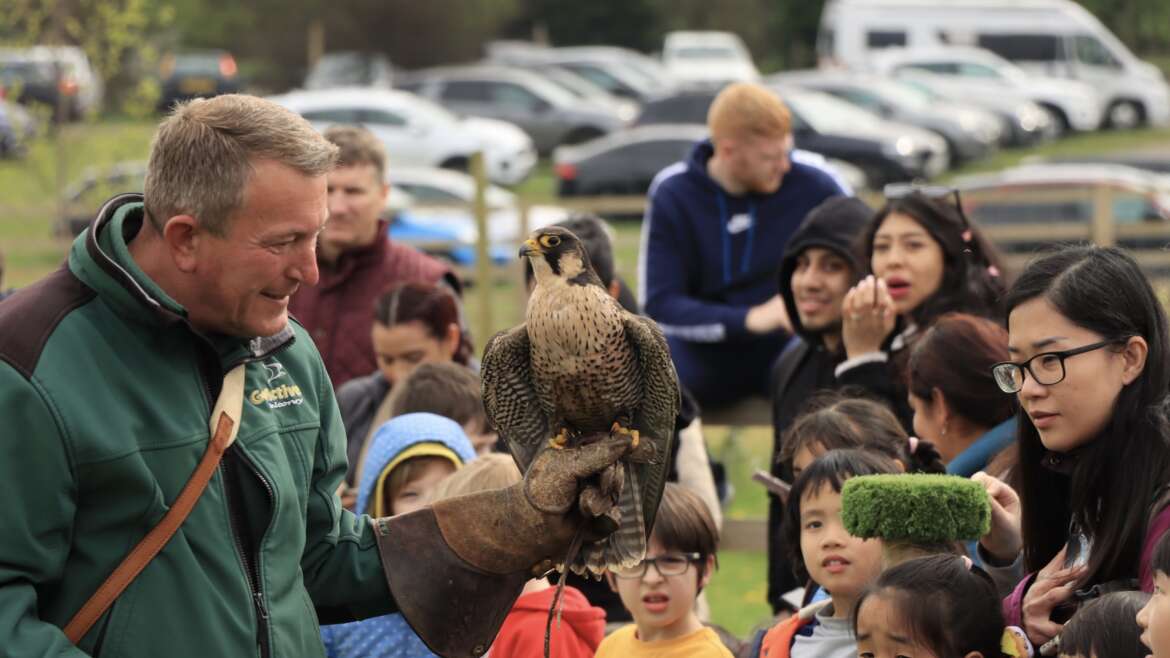
[[[362,462],[357,508],[395,516],[424,507],[427,493],[475,458],[457,423],[434,413],[406,413],[386,421],[373,436]],[[322,626],[329,658],[418,658],[434,656],[401,615]]]

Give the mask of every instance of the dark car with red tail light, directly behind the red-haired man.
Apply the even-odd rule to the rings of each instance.
[[[707,138],[702,124],[648,124],[613,132],[586,144],[562,146],[552,156],[557,193],[562,197],[645,194],[667,166],[686,160],[695,143]],[[831,170],[846,186],[865,187],[859,170],[794,150],[793,159]]]

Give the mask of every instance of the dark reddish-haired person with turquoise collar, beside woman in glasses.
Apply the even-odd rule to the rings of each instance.
[[[907,376],[914,433],[938,447],[947,472],[969,478],[1016,441],[1014,404],[991,376],[1007,361],[1007,331],[994,322],[947,314],[910,350]],[[996,464],[1003,475],[1009,464]]]

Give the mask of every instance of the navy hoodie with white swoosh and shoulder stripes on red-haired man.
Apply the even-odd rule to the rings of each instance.
[[[732,197],[707,174],[714,153],[704,139],[654,178],[638,273],[646,314],[668,337],[702,343],[749,336],[744,317],[776,294],[789,238],[821,201],[851,193],[823,158],[793,151],[776,192]]]

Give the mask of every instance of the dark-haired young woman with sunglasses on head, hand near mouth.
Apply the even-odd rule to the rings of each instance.
[[[927,192],[931,192],[928,196]],[[906,398],[909,347],[943,314],[989,316],[1003,293],[999,256],[949,197],[934,189],[890,189],[874,217],[863,249],[872,274],[845,296],[841,385],[856,385],[890,404],[910,431]]]

